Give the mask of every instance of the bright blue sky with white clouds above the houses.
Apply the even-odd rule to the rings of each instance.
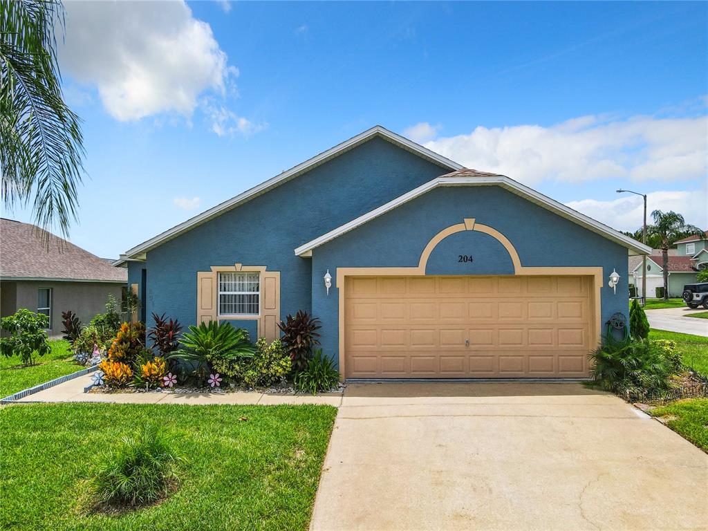
[[[619,187],[708,224],[705,3],[68,2],[64,42],[99,256],[376,124],[617,229]]]

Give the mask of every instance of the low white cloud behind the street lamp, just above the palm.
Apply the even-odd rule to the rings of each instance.
[[[644,200],[639,195],[619,195],[617,199],[597,201],[586,199],[566,203],[578,212],[588,215],[610,227],[623,231],[641,228],[644,218]],[[687,223],[708,227],[708,194],[706,190],[659,191],[647,194],[646,216],[651,224],[652,210],[673,210],[683,215]]]

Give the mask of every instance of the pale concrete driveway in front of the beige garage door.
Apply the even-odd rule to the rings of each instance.
[[[708,529],[708,455],[581,384],[350,384],[312,530]]]

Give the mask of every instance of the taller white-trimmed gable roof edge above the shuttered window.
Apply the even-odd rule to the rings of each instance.
[[[212,207],[209,210],[206,210],[205,212],[202,212],[201,214],[196,215],[195,217],[192,217],[191,219],[188,219],[187,221],[178,224],[175,227],[166,230],[165,232],[162,232],[161,234],[158,234],[157,236],[154,236],[154,238],[144,241],[142,244],[126,251],[125,254],[120,255],[120,258],[115,261],[113,265],[123,265],[130,259],[140,260],[144,258],[144,254],[147,253],[147,251],[149,251],[150,249],[154,249],[155,247],[164,244],[166,241],[176,238],[176,236],[179,236],[184,232],[188,232],[190,229],[198,227],[198,225],[208,222],[210,221],[210,219],[214,219],[219,215],[222,215],[224,212],[228,212],[229,210],[232,210],[238,207],[239,205],[243,205],[245,202],[253,198],[257,198],[258,195],[262,195],[263,193],[266,193],[269,190],[273,190],[273,188],[275,188],[276,186],[286,183],[287,181],[290,181],[295,177],[302,175],[302,173],[312,170],[316,168],[316,166],[324,164],[325,162],[334,159],[336,156],[348,152],[350,149],[353,149],[374,137],[380,137],[384,140],[387,140],[388,142],[391,142],[396,146],[406,149],[406,151],[409,151],[413,154],[423,157],[423,159],[433,162],[433,164],[437,164],[442,169],[445,169],[447,171],[462,169],[462,166],[460,164],[457,164],[457,162],[451,161],[445,156],[430,151],[430,149],[423,147],[420,144],[416,144],[416,142],[413,142],[405,137],[401,137],[401,135],[397,135],[396,133],[387,130],[385,127],[375,125],[374,127],[371,127],[370,129],[359,133],[355,137],[351,137],[345,142],[341,142],[341,144],[337,144],[335,147],[327,149],[325,152],[321,152],[319,155],[313,156],[312,159],[308,159],[307,161],[304,161],[301,164],[298,164],[297,166],[293,166],[291,169],[283,171],[277,176],[268,179],[268,181],[264,181],[263,183],[254,186],[250,190],[246,190],[244,193],[236,195],[234,198],[224,201],[221,204],[216,205],[215,207]]]

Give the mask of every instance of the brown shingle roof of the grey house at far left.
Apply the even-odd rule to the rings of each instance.
[[[120,282],[127,271],[115,268],[103,258],[84,251],[64,239],[50,235],[49,249],[38,229],[28,223],[2,218],[0,277],[3,280],[76,280],[80,282]]]

